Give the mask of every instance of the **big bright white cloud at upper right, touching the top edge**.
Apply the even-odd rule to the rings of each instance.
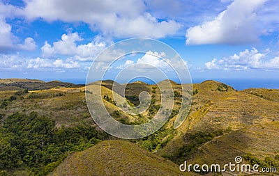
[[[187,45],[229,44],[256,42],[257,10],[266,0],[235,0],[212,21],[190,27],[186,31]]]

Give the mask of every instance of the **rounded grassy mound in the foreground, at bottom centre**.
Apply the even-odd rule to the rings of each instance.
[[[65,159],[50,175],[182,175],[179,166],[127,141],[103,141]],[[191,174],[193,175],[193,174]]]

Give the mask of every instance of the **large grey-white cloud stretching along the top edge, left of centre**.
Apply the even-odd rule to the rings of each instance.
[[[24,15],[29,20],[47,22],[85,22],[93,31],[118,38],[164,38],[174,35],[181,24],[174,20],[159,21],[146,12],[144,1],[40,0],[25,1]]]

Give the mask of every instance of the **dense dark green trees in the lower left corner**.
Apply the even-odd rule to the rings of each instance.
[[[71,152],[106,138],[95,127],[57,128],[54,120],[36,112],[14,113],[0,127],[0,170],[24,167],[36,175],[47,175]]]

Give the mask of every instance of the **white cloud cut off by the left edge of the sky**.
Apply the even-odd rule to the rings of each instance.
[[[26,38],[22,44],[17,43],[17,37],[12,33],[12,27],[6,23],[6,19],[0,15],[0,53],[9,51],[36,49],[36,42],[33,38]]]

